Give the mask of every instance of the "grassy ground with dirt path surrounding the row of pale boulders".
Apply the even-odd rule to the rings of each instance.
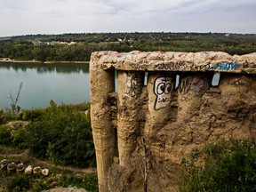
[[[0,146],[0,148],[6,148]],[[17,152],[15,148],[8,147],[10,152]],[[19,152],[23,152],[19,150]],[[73,172],[66,169],[65,167],[56,166],[49,164],[48,162],[37,160],[32,156],[23,156],[21,154],[9,154],[9,155],[0,155],[0,160],[6,158],[11,162],[17,160],[22,161],[24,164],[40,165],[42,168],[48,168],[51,174],[47,177],[43,175],[26,175],[23,173],[16,172],[7,172],[5,170],[0,170],[0,191],[1,192],[41,192],[43,190],[56,187],[66,188],[68,186],[76,188],[85,188],[87,191],[96,192],[98,191],[98,180],[97,174],[92,173],[83,173],[83,172]]]

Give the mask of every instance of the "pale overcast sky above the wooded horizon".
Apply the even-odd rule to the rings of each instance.
[[[0,0],[0,36],[162,31],[256,34],[256,0]]]

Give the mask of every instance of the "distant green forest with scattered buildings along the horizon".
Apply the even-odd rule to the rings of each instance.
[[[84,33],[0,37],[0,58],[38,61],[89,61],[96,51],[256,52],[256,34]]]

